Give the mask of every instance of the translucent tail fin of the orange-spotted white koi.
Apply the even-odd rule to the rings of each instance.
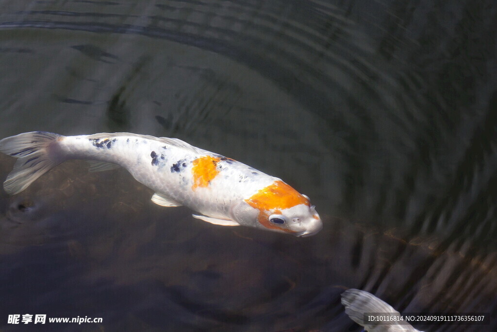
[[[51,158],[48,153],[50,144],[60,137],[64,136],[32,131],[0,140],[0,152],[19,158],[3,183],[3,189],[10,195],[20,193],[34,180],[60,164],[61,159]]]

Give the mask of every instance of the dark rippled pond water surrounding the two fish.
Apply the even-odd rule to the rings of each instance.
[[[491,314],[424,331],[496,331],[496,21],[470,0],[1,1],[1,137],[178,137],[284,179],[325,228],[207,224],[67,162],[0,192],[0,329],[360,331],[358,288]]]

